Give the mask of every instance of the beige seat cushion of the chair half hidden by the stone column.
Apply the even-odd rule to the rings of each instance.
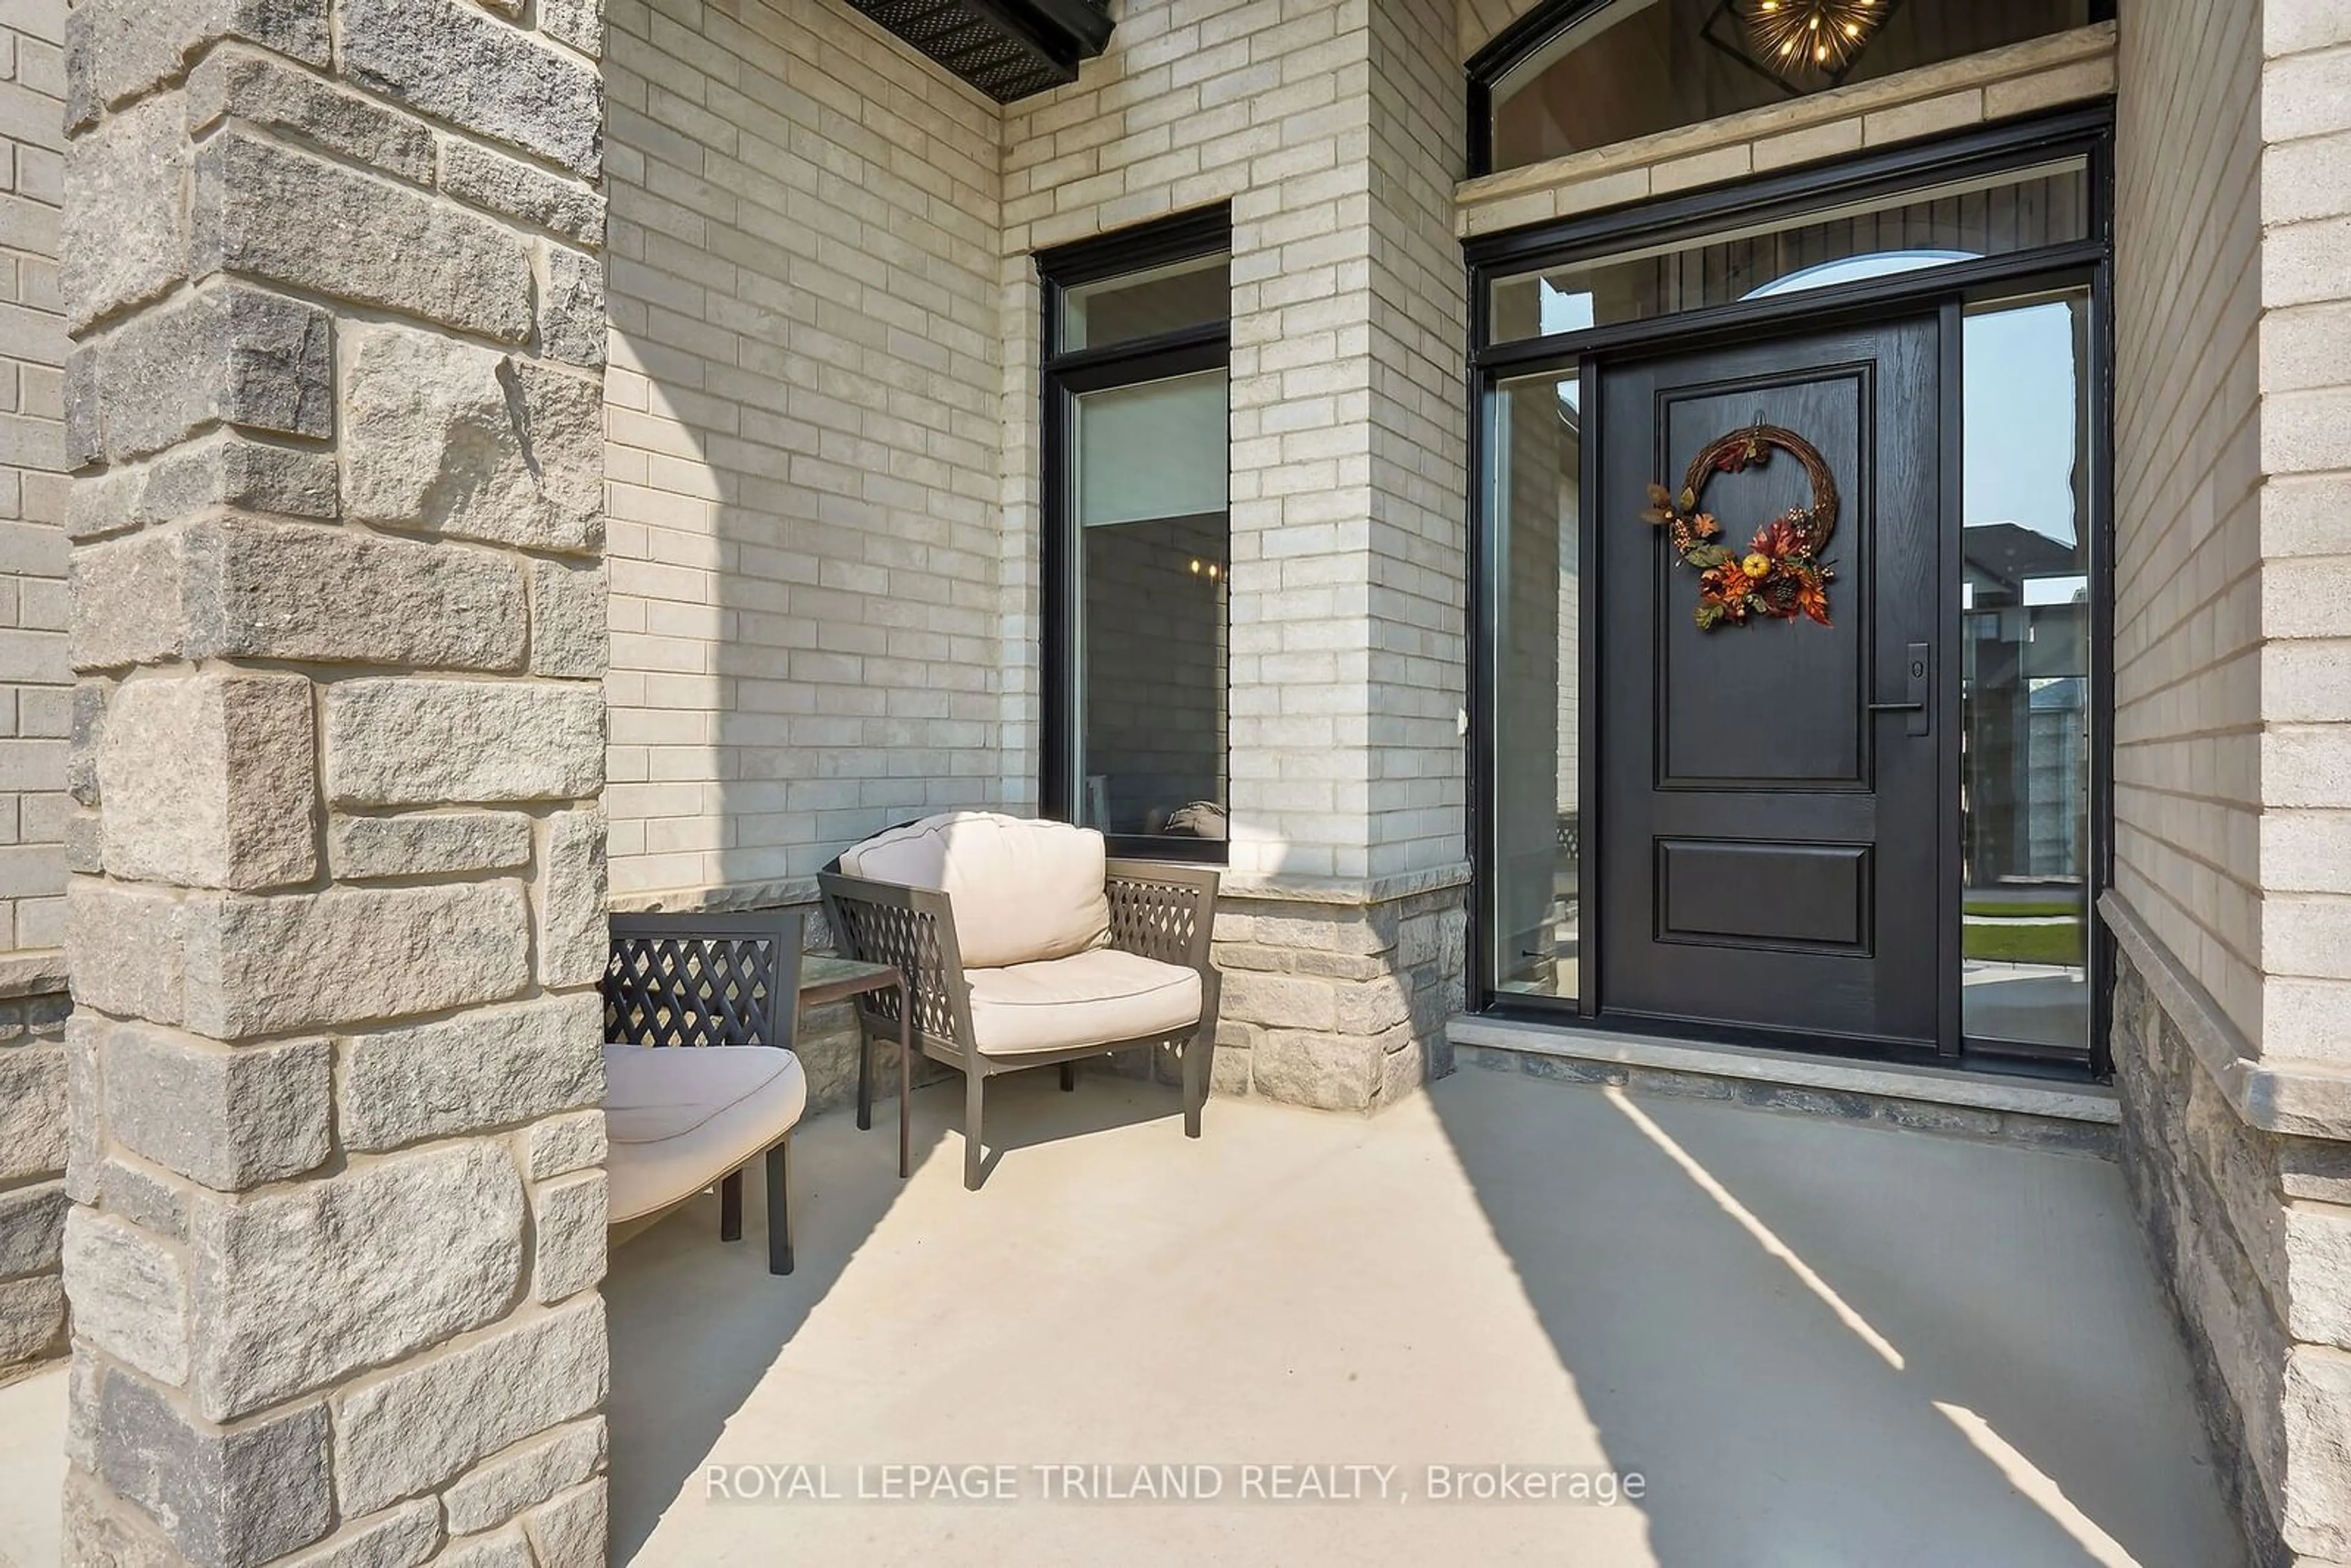
[[[604,1046],[611,1222],[694,1197],[783,1140],[809,1107],[773,1046]]]

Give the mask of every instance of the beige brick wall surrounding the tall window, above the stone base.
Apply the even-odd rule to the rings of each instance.
[[[1232,865],[1368,879],[1462,858],[1462,167],[1439,0],[1126,7],[1006,113],[1009,567],[1037,557],[1030,252],[1232,202]],[[1034,686],[1034,583],[1006,654]],[[1006,715],[1034,773],[1032,701]]]

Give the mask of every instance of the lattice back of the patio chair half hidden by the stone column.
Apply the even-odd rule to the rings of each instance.
[[[792,1048],[802,914],[614,914],[604,1041]]]

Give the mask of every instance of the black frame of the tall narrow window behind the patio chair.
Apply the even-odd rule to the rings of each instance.
[[[1232,367],[1232,310],[1215,322],[1180,327],[1103,348],[1063,348],[1063,299],[1070,289],[1128,273],[1197,261],[1232,252],[1232,207],[1204,207],[1112,235],[1077,240],[1037,252],[1044,306],[1044,357],[1039,367],[1039,736],[1037,806],[1044,816],[1074,823],[1077,799],[1070,762],[1084,715],[1077,710],[1074,628],[1081,581],[1077,571],[1077,503],[1070,494],[1072,430],[1079,393],[1166,381]],[[1225,473],[1232,473],[1232,430],[1225,430]],[[1230,520],[1230,512],[1227,512]],[[1227,522],[1230,527],[1230,522]],[[1227,691],[1232,672],[1227,665]],[[1230,745],[1227,745],[1230,778]],[[1230,788],[1230,785],[1227,785]],[[1218,802],[1230,813],[1232,802]],[[1105,835],[1110,853],[1150,860],[1225,865],[1227,839],[1176,835]]]

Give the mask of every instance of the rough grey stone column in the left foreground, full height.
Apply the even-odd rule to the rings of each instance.
[[[80,0],[68,1563],[604,1561],[595,0]]]

